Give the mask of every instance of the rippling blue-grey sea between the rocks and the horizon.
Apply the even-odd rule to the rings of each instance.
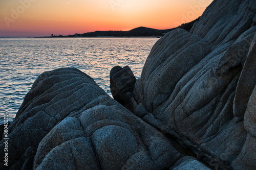
[[[111,95],[111,68],[129,65],[139,78],[158,39],[0,38],[0,125],[5,114],[13,120],[24,96],[44,71],[78,68]]]

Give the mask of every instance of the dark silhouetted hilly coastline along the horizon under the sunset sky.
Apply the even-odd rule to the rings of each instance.
[[[186,31],[189,31],[194,23],[198,21],[200,17],[197,19],[183,23],[181,26],[172,28],[172,29],[166,29],[166,30],[157,30],[152,28],[146,28],[146,27],[138,27],[135,29],[132,29],[130,31],[95,31],[95,32],[89,32],[89,33],[83,33],[83,34],[74,34],[74,35],[51,35],[48,37],[35,37],[35,38],[67,38],[67,37],[161,37],[167,32],[170,32],[177,28],[182,28]]]

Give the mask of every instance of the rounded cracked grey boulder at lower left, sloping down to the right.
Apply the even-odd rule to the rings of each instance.
[[[8,137],[9,169],[166,169],[183,157],[75,68],[37,78]]]

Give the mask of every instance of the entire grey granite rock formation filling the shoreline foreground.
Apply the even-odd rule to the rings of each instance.
[[[141,79],[114,67],[120,103],[78,69],[44,72],[0,168],[255,169],[255,11],[252,0],[215,0],[190,32],[154,45]]]

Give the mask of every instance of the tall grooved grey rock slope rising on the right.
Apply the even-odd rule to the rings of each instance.
[[[256,169],[255,12],[254,0],[212,2],[190,32],[157,41],[122,101],[219,169]]]

